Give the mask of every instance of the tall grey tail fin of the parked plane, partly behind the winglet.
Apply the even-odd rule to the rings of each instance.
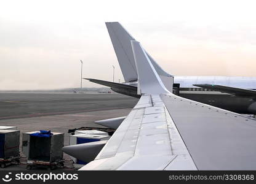
[[[134,37],[132,37],[118,22],[106,22],[106,28],[108,28],[108,33],[110,34],[114,52],[116,52],[116,56],[118,57],[118,63],[121,67],[124,80],[126,82],[137,80],[138,74],[134,60],[134,54],[132,52],[132,45],[130,44],[131,40],[135,40]],[[169,80],[169,77],[172,77],[172,75],[165,72],[156,63],[156,61],[154,61],[154,59],[148,55],[148,53],[146,53],[146,55],[150,59],[154,68],[156,69],[156,72],[158,72],[158,75],[161,77],[163,82],[166,79]],[[166,86],[169,85],[166,83]],[[172,86],[170,88],[172,88]]]

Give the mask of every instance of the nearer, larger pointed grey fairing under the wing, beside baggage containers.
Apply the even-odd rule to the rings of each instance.
[[[86,163],[93,161],[100,150],[105,146],[108,140],[100,140],[96,142],[89,142],[85,144],[69,145],[62,148],[62,151],[74,158],[80,159]]]

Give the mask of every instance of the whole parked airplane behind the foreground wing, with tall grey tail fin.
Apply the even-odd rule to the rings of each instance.
[[[125,82],[87,80],[110,86],[117,93],[140,98],[140,94],[137,94],[138,74],[130,44],[135,39],[118,22],[108,22],[106,27]],[[147,52],[146,56],[166,88],[174,94],[237,113],[256,114],[256,77],[175,76],[165,72]]]

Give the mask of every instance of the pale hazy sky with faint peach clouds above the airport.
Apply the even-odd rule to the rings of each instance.
[[[256,77],[255,1],[12,1],[0,6],[0,90],[124,82],[106,21],[172,75]],[[84,87],[100,85],[83,80]]]

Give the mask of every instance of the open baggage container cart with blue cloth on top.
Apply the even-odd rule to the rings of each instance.
[[[28,158],[26,169],[64,167],[64,134],[50,131],[25,132],[22,137],[22,151]]]

